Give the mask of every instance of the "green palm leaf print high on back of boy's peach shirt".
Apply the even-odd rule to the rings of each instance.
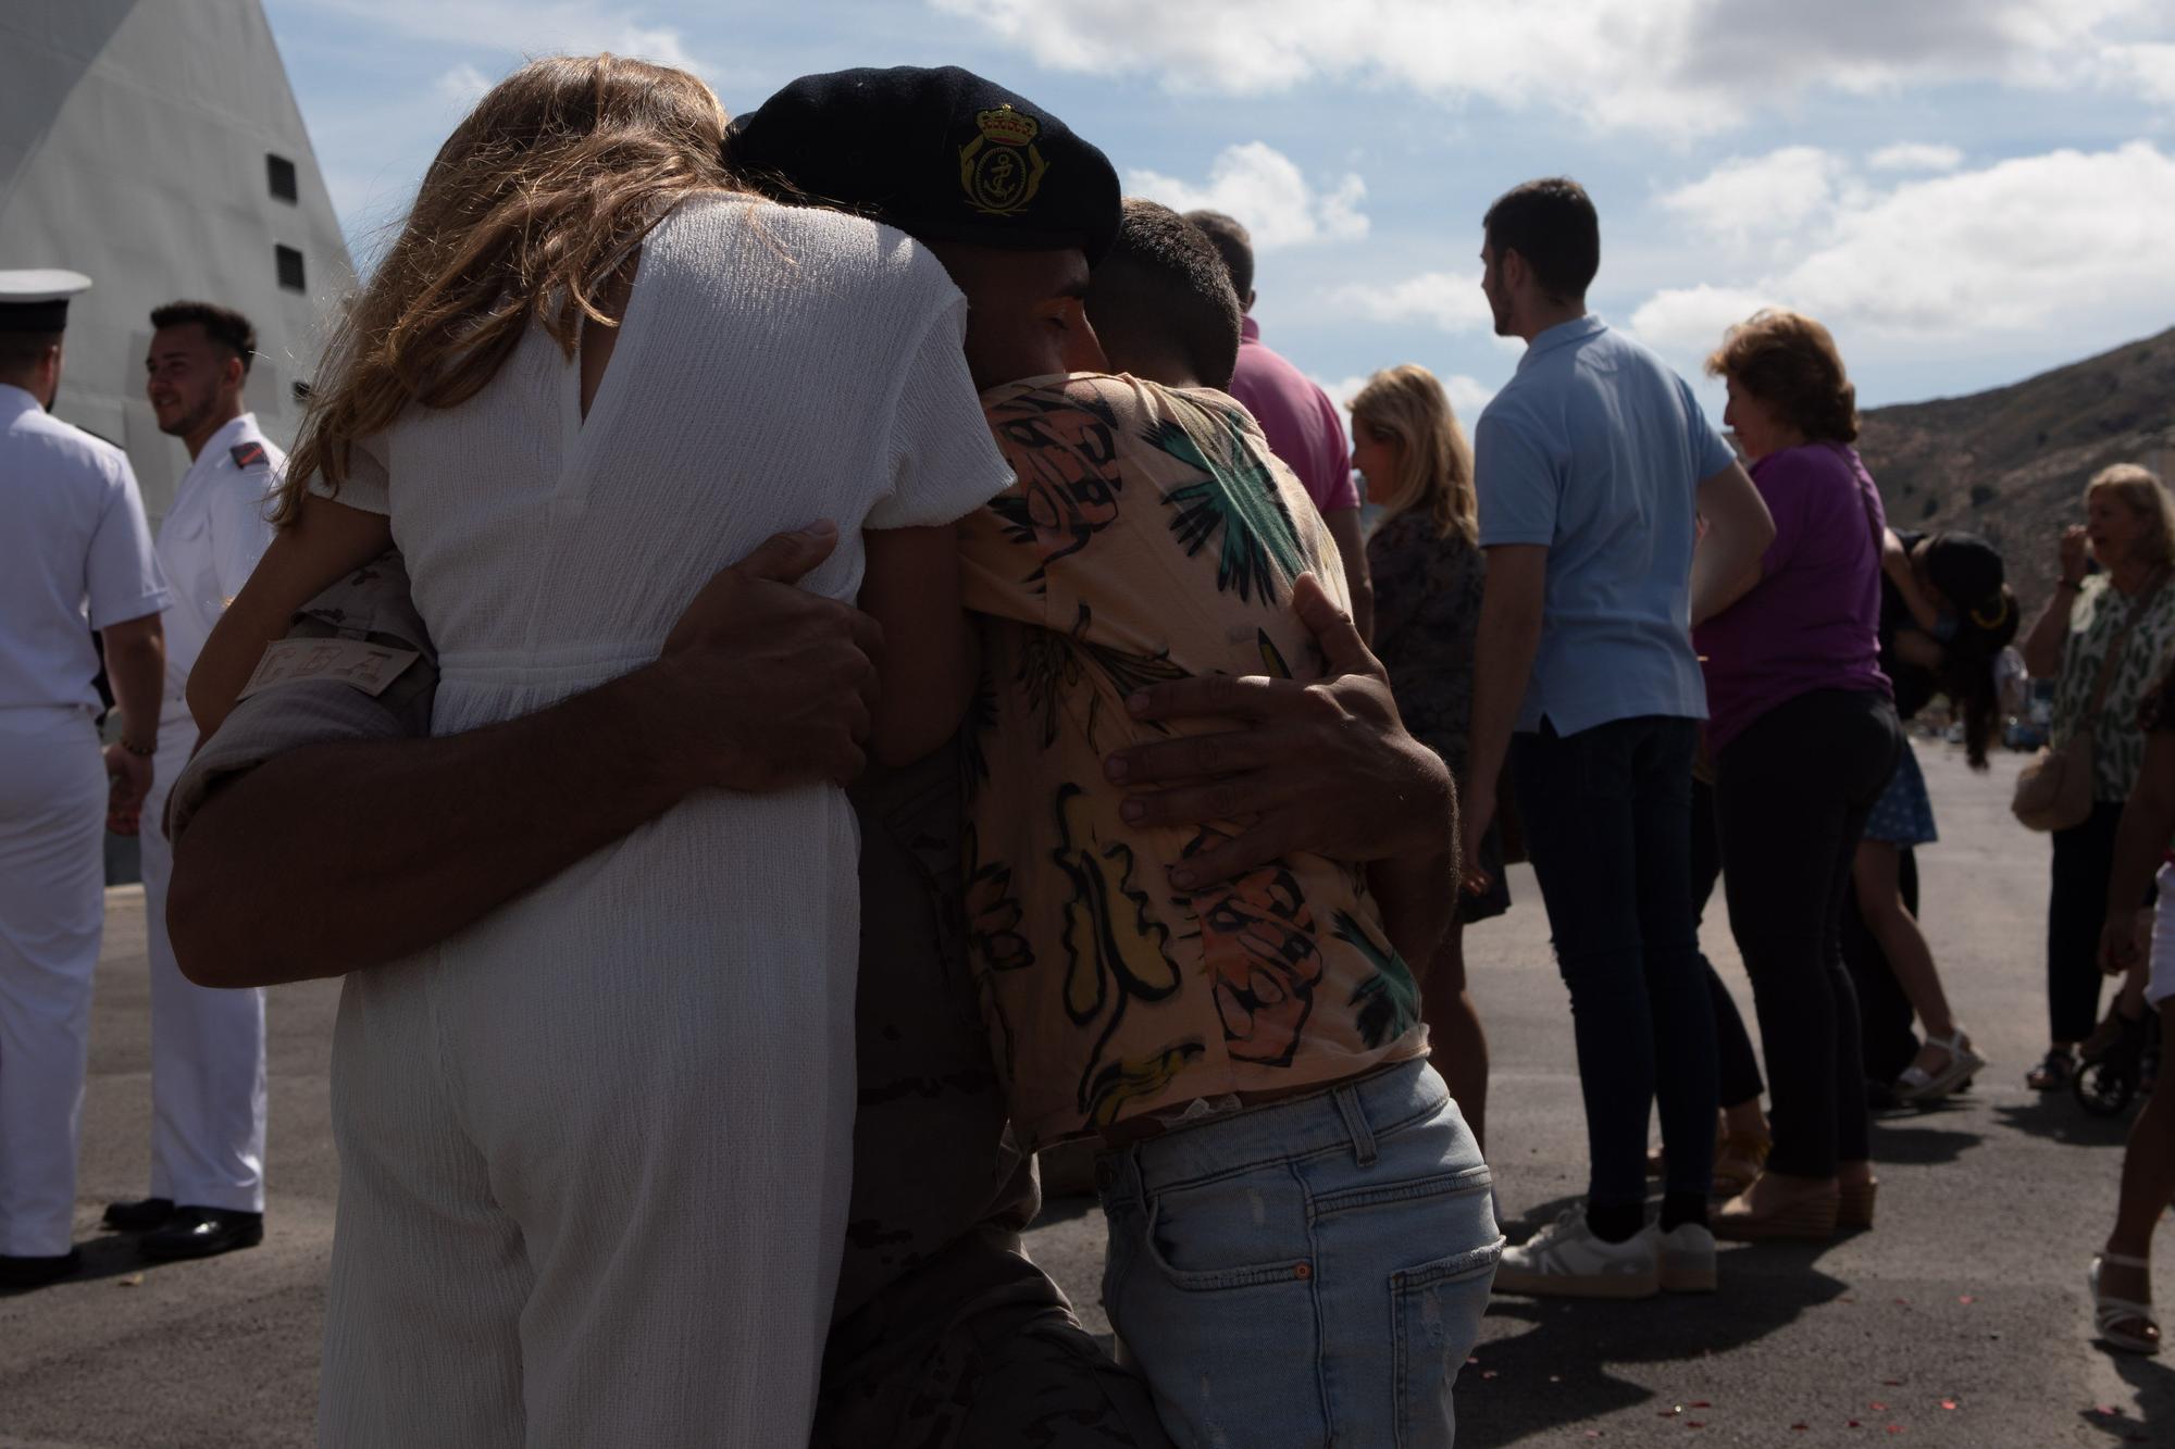
[[[1216,533],[1222,533],[1216,555],[1216,587],[1248,603],[1255,596],[1270,603],[1279,570],[1283,579],[1296,579],[1305,572],[1298,531],[1292,527],[1292,516],[1283,511],[1277,474],[1270,472],[1264,457],[1255,457],[1244,446],[1244,435],[1235,424],[1218,420],[1214,426],[1216,437],[1207,446],[1170,418],[1159,418],[1142,435],[1203,474],[1198,483],[1185,483],[1164,494],[1164,503],[1177,509],[1170,518],[1170,533],[1185,548],[1185,557],[1194,557]]]

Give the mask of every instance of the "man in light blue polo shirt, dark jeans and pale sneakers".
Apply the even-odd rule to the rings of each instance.
[[[1483,228],[1496,333],[1527,352],[1475,433],[1488,592],[1464,840],[1472,859],[1507,753],[1570,988],[1592,1173],[1586,1208],[1505,1251],[1494,1286],[1712,1290],[1714,1012],[1690,890],[1707,696],[1690,629],[1757,581],[1775,524],[1683,379],[1586,311],[1601,268],[1586,191],[1527,183]],[[1655,1099],[1668,1179],[1646,1227]]]

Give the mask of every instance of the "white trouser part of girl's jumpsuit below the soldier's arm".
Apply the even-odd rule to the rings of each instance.
[[[341,986],[320,1445],[807,1442],[850,1194],[857,899],[787,920],[748,901],[850,881],[855,840],[824,862],[820,835],[755,822],[776,870],[720,879],[711,907],[661,883],[711,859],[674,816]]]

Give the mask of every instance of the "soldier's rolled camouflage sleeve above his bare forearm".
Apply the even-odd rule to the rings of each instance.
[[[241,703],[174,781],[165,831],[181,840],[213,790],[304,744],[431,733],[437,651],[387,550],[294,616]]]

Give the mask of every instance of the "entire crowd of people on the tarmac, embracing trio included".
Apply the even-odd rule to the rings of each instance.
[[[1577,183],[1479,231],[1516,376],[1468,442],[1377,372],[1346,448],[1246,228],[1122,198],[1024,96],[833,72],[729,122],[535,61],[291,457],[246,320],[154,313],[196,459],[157,544],[46,411],[80,278],[0,296],[46,509],[0,581],[7,1281],[76,1266],[107,820],[146,842],[159,1134],[107,1214],[146,1253],[261,1240],[263,988],[346,979],[324,1442],[1449,1445],[1490,1292],[1712,1292],[1718,1236],[1870,1229],[1873,1101],[1988,1068],[1903,722],[1949,701],[1986,768],[2001,555],[1888,524],[1816,320],[1716,339],[1725,435],[1588,311]],[[2086,509],[2023,640],[2068,781],[2018,801],[2058,827],[2044,1090],[2175,992],[2175,505],[2112,468]],[[1590,1181],[1505,1247],[1464,936],[1516,857]],[[2092,1264],[2140,1351],[2168,1097]],[[1124,1366],[1020,1251],[1079,1142]]]

